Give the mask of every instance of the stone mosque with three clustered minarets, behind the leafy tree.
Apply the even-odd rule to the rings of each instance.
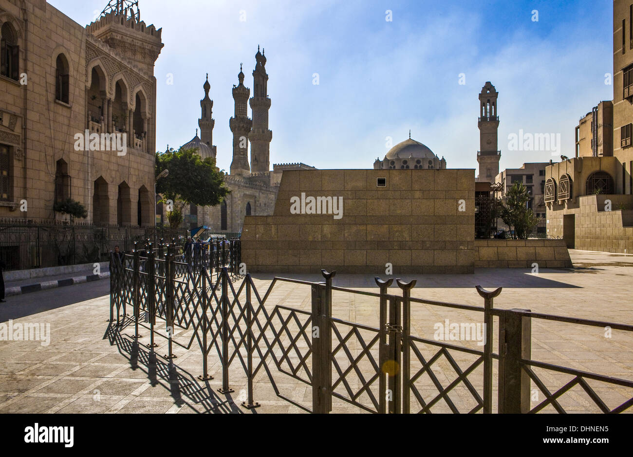
[[[235,104],[234,116],[229,120],[233,133],[233,160],[230,174],[224,177],[230,194],[218,206],[195,206],[184,208],[184,220],[187,228],[208,227],[213,232],[241,232],[244,216],[272,215],[275,199],[279,191],[279,182],[284,170],[313,169],[298,164],[274,165],[270,171],[270,142],[272,132],[268,130],[268,75],[266,57],[260,49],[255,55],[256,66],[253,71],[253,97],[250,98],[253,120],[248,117],[250,89],[244,86],[242,66],[237,75],[238,84],[233,87]],[[217,147],[213,146],[212,116],[213,101],[209,98],[211,89],[208,80],[204,82],[204,99],[201,101],[201,118],[198,120],[200,137],[196,136],[184,148],[196,149],[203,158],[217,157]],[[248,145],[251,144],[251,160],[248,160]]]

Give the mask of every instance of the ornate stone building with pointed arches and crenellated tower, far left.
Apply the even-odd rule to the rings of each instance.
[[[82,27],[45,0],[0,0],[0,218],[63,219],[70,197],[86,222],[153,225],[161,29],[114,4]]]

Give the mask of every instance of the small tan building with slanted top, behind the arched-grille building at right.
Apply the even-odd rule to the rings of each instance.
[[[601,101],[575,128],[576,157],[613,156],[613,102]]]

